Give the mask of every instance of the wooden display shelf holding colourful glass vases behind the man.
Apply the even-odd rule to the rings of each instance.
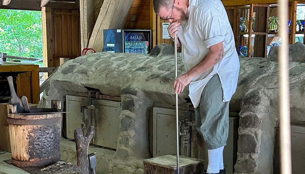
[[[290,44],[298,41],[305,44],[303,39],[305,33],[305,10],[303,10],[304,15],[302,18],[300,18],[300,15],[296,15],[297,10],[300,13],[300,9],[298,9],[300,5],[305,8],[305,2],[289,2],[287,33]],[[270,46],[281,45],[279,33],[279,22],[281,21],[278,19],[277,4],[249,4],[236,6],[235,8],[237,9],[235,43],[238,53],[241,52],[242,48],[247,51],[245,53],[247,57],[262,55],[262,57],[267,57]],[[262,50],[264,53],[261,53]]]

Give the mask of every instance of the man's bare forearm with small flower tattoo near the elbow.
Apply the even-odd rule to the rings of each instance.
[[[209,52],[206,55],[206,58],[200,61],[195,67],[190,69],[187,73],[190,77],[195,78],[200,74],[210,70],[215,66],[217,62],[219,62],[224,55],[224,50],[221,49],[218,53],[217,52]]]

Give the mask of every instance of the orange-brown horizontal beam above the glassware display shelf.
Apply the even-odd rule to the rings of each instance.
[[[224,6],[238,6],[238,5],[251,5],[251,4],[277,4],[277,0],[221,0]],[[302,0],[304,2],[305,0]],[[289,0],[294,2],[294,0]]]

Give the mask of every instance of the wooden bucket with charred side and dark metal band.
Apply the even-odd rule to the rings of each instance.
[[[60,160],[60,106],[60,101],[52,100],[52,108],[31,108],[30,113],[17,114],[16,105],[7,105],[13,165],[44,167]]]

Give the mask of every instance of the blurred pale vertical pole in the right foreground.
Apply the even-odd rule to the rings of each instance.
[[[280,36],[282,46],[278,53],[279,62],[279,107],[280,107],[280,158],[281,173],[291,174],[291,129],[289,101],[289,61],[288,61],[288,0],[278,0],[280,21]],[[294,9],[295,10],[295,9]]]

